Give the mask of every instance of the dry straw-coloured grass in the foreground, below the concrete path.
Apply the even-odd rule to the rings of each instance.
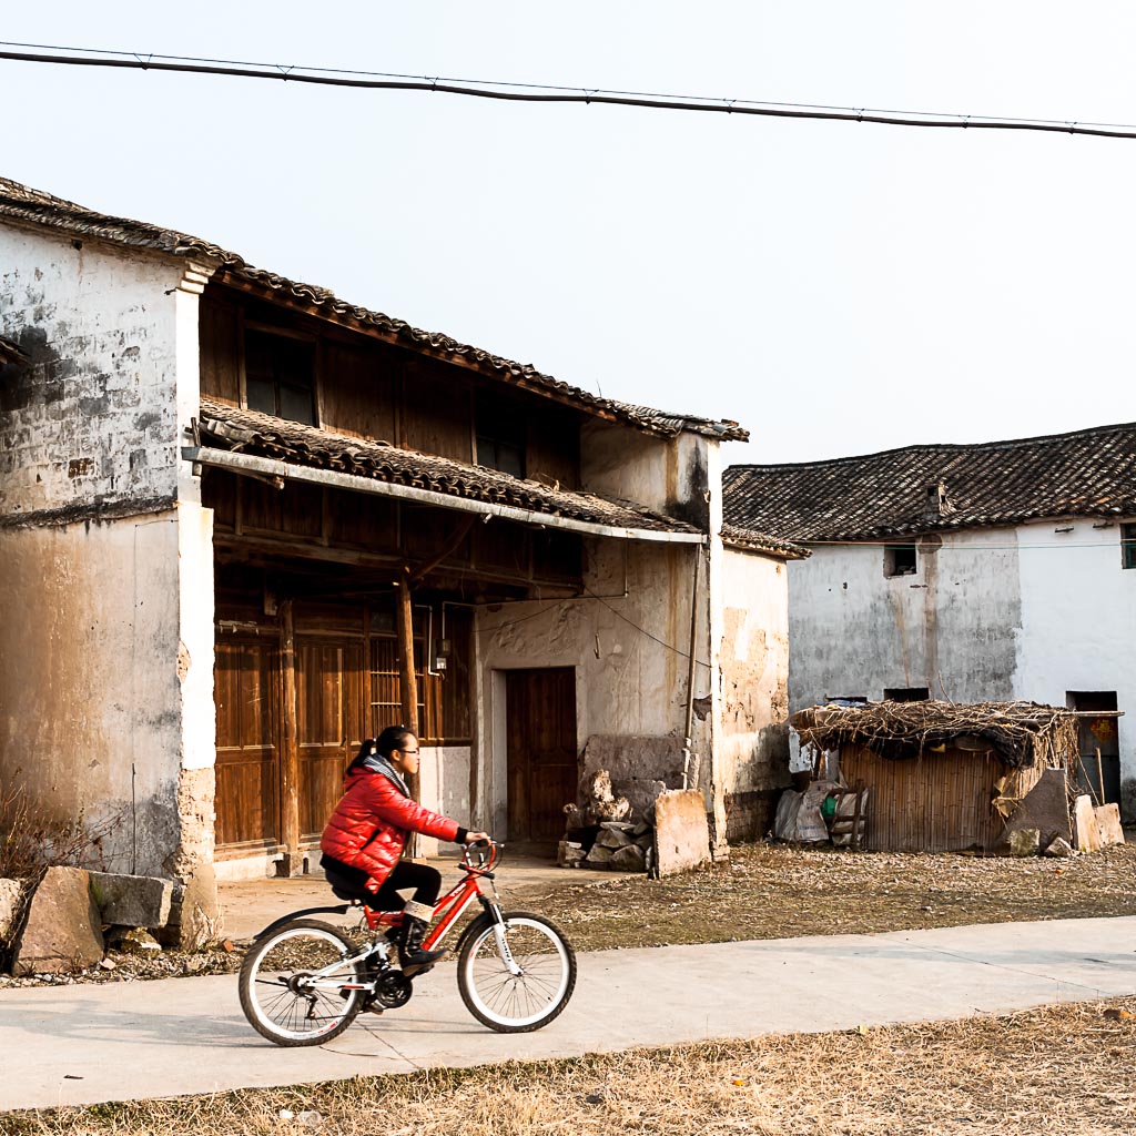
[[[1136,1130],[1136,999],[0,1116],[6,1136],[1100,1136]],[[291,1117],[282,1112],[292,1113]],[[308,1116],[301,1116],[308,1113]],[[317,1116],[311,1116],[317,1113]]]

